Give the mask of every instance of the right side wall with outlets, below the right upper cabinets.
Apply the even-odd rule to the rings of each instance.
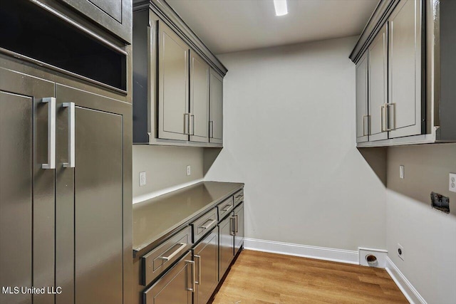
[[[456,303],[456,193],[448,190],[455,157],[454,144],[388,148],[388,256],[429,304]],[[431,208],[432,191],[450,197],[450,214]]]

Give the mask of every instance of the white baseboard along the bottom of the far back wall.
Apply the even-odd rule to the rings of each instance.
[[[317,258],[318,260],[358,265],[358,251],[248,238],[244,239],[244,248],[254,251],[281,253],[288,256],[303,256],[305,258]]]

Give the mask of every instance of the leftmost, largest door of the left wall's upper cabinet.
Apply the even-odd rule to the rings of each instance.
[[[158,23],[158,37],[158,137],[188,140],[190,48],[162,21]]]

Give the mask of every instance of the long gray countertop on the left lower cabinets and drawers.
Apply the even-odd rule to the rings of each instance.
[[[142,251],[243,187],[242,183],[199,182],[134,204],[133,252]]]

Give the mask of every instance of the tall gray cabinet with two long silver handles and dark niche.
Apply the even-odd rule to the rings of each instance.
[[[0,293],[0,303],[127,304],[131,49],[106,42],[98,36],[104,30],[74,26],[65,6],[53,9],[2,4],[1,27],[15,19],[19,29],[14,39],[0,33],[0,285],[12,288]],[[46,22],[29,26],[37,20]],[[78,46],[62,53],[61,37],[68,46],[82,43],[86,53]],[[31,38],[55,48],[27,47]],[[99,73],[101,57],[111,75]]]

